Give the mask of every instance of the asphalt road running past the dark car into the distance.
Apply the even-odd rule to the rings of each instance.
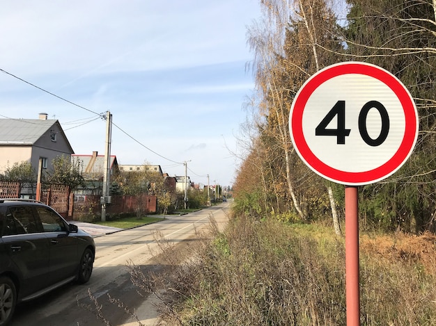
[[[153,265],[153,257],[159,254],[157,239],[180,245],[194,241],[196,231],[208,227],[211,217],[223,228],[228,221],[227,209],[228,203],[223,203],[152,225],[96,236],[90,281],[84,285],[68,284],[42,298],[19,304],[10,326],[139,325],[118,304],[109,302],[108,294],[135,311],[143,325],[155,325],[158,316],[153,303],[157,299],[154,295],[139,295],[127,265],[133,263],[143,272],[158,270],[159,266]],[[95,316],[96,307],[101,307],[107,323]]]

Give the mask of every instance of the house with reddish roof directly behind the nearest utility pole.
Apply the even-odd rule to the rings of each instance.
[[[78,195],[102,195],[103,176],[104,176],[104,155],[98,155],[98,152],[88,155],[71,155],[71,159],[78,159],[83,164],[82,176],[85,179],[86,186],[75,190]],[[109,161],[110,179],[118,177],[119,168],[115,155],[111,155]],[[80,200],[79,197],[76,198]]]

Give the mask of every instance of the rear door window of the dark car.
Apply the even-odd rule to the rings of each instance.
[[[31,206],[12,206],[6,211],[3,235],[38,233],[42,227],[33,215]]]

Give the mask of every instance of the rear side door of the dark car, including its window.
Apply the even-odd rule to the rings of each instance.
[[[49,242],[31,206],[9,206],[3,227],[3,248],[20,270],[21,297],[49,284]]]

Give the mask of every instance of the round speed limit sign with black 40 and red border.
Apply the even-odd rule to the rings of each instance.
[[[368,63],[338,63],[299,89],[289,116],[290,137],[314,172],[338,184],[380,181],[412,154],[419,124],[403,83]]]

